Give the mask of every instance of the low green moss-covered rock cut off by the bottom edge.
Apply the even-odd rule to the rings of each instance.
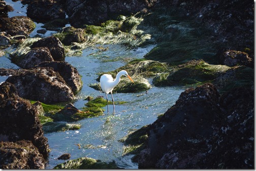
[[[65,163],[58,164],[54,169],[118,169],[116,163],[102,162],[101,160],[95,160],[93,158],[82,157],[74,160],[69,160]]]

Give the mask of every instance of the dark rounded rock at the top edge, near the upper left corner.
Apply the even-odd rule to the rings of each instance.
[[[49,21],[52,19],[64,19],[65,12],[57,1],[43,0],[33,1],[27,6],[27,16],[38,21]]]

